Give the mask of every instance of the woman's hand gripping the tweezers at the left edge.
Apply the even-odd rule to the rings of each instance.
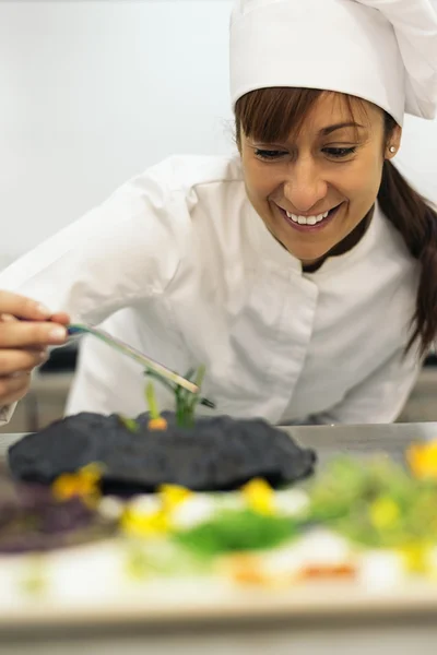
[[[69,322],[66,313],[0,290],[0,407],[27,393],[32,370],[48,359],[48,346],[66,343]]]

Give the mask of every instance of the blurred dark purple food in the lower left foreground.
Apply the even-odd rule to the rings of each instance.
[[[116,523],[80,498],[57,500],[42,485],[14,484],[0,472],[0,553],[47,551],[115,534]]]

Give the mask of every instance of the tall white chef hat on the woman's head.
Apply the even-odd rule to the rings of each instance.
[[[388,111],[435,118],[436,0],[236,0],[232,103],[273,86],[357,96]]]

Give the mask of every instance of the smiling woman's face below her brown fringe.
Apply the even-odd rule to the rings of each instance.
[[[299,134],[261,143],[241,134],[248,198],[272,235],[304,263],[340,243],[375,203],[389,146],[383,112],[365,103],[353,121],[345,98],[320,96]]]

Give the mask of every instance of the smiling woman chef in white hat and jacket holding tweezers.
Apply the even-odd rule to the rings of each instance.
[[[0,275],[3,421],[69,318],[204,365],[220,413],[397,418],[437,329],[437,215],[392,162],[436,111],[430,1],[239,0],[231,94],[235,156],[153,166]],[[137,415],[143,383],[84,341],[68,413]]]

